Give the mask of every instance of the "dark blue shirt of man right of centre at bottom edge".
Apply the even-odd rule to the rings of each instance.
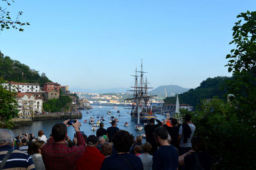
[[[176,170],[179,153],[172,145],[161,146],[153,155],[153,170]]]

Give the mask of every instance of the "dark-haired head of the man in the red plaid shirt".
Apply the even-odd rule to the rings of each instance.
[[[67,126],[63,123],[55,124],[52,127],[52,137],[54,141],[63,141],[67,137]]]

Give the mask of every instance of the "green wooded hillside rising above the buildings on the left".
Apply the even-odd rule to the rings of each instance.
[[[45,73],[41,75],[35,69],[21,64],[18,60],[12,60],[0,52],[0,77],[6,81],[23,83],[39,83],[40,85],[49,82]]]

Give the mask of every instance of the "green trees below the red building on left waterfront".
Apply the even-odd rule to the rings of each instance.
[[[68,96],[60,96],[60,99],[50,99],[44,103],[44,111],[48,112],[59,112],[63,110],[68,110],[68,103],[72,102]]]

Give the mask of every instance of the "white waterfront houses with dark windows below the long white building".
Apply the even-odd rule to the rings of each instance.
[[[20,118],[31,119],[34,113],[42,113],[42,96],[35,97],[34,94],[31,93],[18,93],[16,100]]]

